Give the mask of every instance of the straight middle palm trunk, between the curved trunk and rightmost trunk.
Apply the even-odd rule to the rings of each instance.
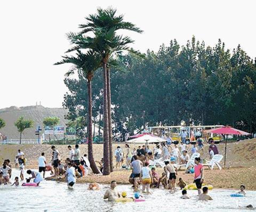
[[[103,62],[103,175],[110,174],[109,164],[109,135],[108,135],[108,87],[107,87],[107,63]]]

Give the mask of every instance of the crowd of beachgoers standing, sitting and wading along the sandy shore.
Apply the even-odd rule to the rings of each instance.
[[[209,146],[209,158],[211,159],[215,154],[219,154],[217,146],[214,141],[211,140],[211,145]],[[197,145],[192,145],[190,149],[185,143],[178,145],[169,145],[168,143],[157,143],[153,150],[145,145],[138,146],[138,148],[131,149],[128,144],[125,145],[123,150],[118,146],[115,150],[116,158],[116,169],[124,168],[131,169],[132,173],[129,177],[129,182],[132,184],[134,192],[140,191],[140,185],[142,193],[151,193],[151,189],[164,188],[170,190],[170,192],[175,192],[177,189],[182,190],[182,199],[189,199],[187,190],[185,189],[187,183],[180,177],[177,182],[178,168],[177,164],[186,164],[190,158],[190,155],[197,151],[203,151],[201,147],[202,142],[198,142]],[[76,183],[77,177],[83,177],[89,174],[90,162],[87,155],[81,155],[79,145],[75,145],[75,149],[71,146],[67,147],[69,157],[62,162],[59,150],[55,147],[51,147],[51,161],[46,162],[45,153],[42,152],[41,156],[38,158],[38,171],[28,169],[27,174],[30,176],[26,179],[26,183],[33,180],[33,183],[39,185],[41,181],[45,178],[45,172],[51,171],[51,175],[60,178],[65,177],[68,188],[73,188]],[[159,176],[156,172],[156,167],[153,165],[155,160],[162,160],[164,162],[162,175]],[[20,180],[25,181],[24,171],[26,165],[26,158],[24,153],[19,149],[17,156],[15,157],[15,168],[20,169]],[[194,173],[194,183],[198,191],[199,200],[212,200],[212,198],[207,194],[208,188],[202,186],[204,182],[204,167],[201,163],[201,158],[196,157],[194,160],[195,166],[193,167]],[[101,159],[99,164],[99,169],[103,170],[103,160]],[[10,160],[4,160],[3,166],[0,167],[0,184],[12,184],[15,186],[19,185],[19,177],[16,176],[14,182],[11,183],[12,167]],[[25,182],[22,183],[26,184]],[[105,193],[104,199],[110,201],[120,198],[121,195],[116,190],[116,181],[111,182],[110,189]],[[178,186],[178,187],[177,187]],[[98,183],[91,183],[89,185],[90,190],[99,190],[100,186]],[[241,191],[238,193],[245,194],[245,186],[241,185]],[[122,195],[123,196],[123,195]]]

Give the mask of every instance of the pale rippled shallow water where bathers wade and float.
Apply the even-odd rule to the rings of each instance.
[[[13,171],[12,180],[18,176]],[[26,176],[25,176],[26,178]],[[232,190],[213,189],[209,192],[213,201],[197,201],[197,191],[188,191],[189,200],[180,199],[181,191],[171,194],[169,191],[154,189],[153,194],[145,196],[145,202],[116,203],[103,200],[108,185],[102,185],[100,191],[87,190],[87,184],[75,184],[68,189],[67,184],[55,181],[43,181],[38,187],[0,186],[0,211],[247,211],[239,206],[256,205],[256,191],[247,191],[246,197],[230,197]],[[129,185],[119,185],[117,189],[133,192]]]

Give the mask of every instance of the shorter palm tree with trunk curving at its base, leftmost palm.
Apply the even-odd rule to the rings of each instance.
[[[100,57],[92,51],[83,54],[80,50],[77,50],[76,56],[63,56],[61,62],[55,63],[54,65],[60,65],[65,63],[71,63],[74,65],[66,75],[74,74],[75,71],[81,74],[87,79],[87,93],[88,93],[88,158],[91,164],[93,173],[99,174],[99,168],[95,164],[93,158],[92,148],[92,79],[93,73],[101,65]]]

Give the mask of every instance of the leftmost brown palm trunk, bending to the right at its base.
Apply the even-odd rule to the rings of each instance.
[[[92,76],[91,76],[92,77]],[[94,174],[100,174],[99,168],[95,164],[92,150],[92,83],[91,78],[87,78],[88,88],[88,159],[91,164],[92,172]]]

